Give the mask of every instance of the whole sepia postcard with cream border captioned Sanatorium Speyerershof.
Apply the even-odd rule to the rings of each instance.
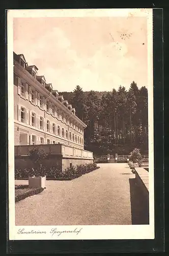
[[[154,239],[152,9],[8,10],[9,239]]]

